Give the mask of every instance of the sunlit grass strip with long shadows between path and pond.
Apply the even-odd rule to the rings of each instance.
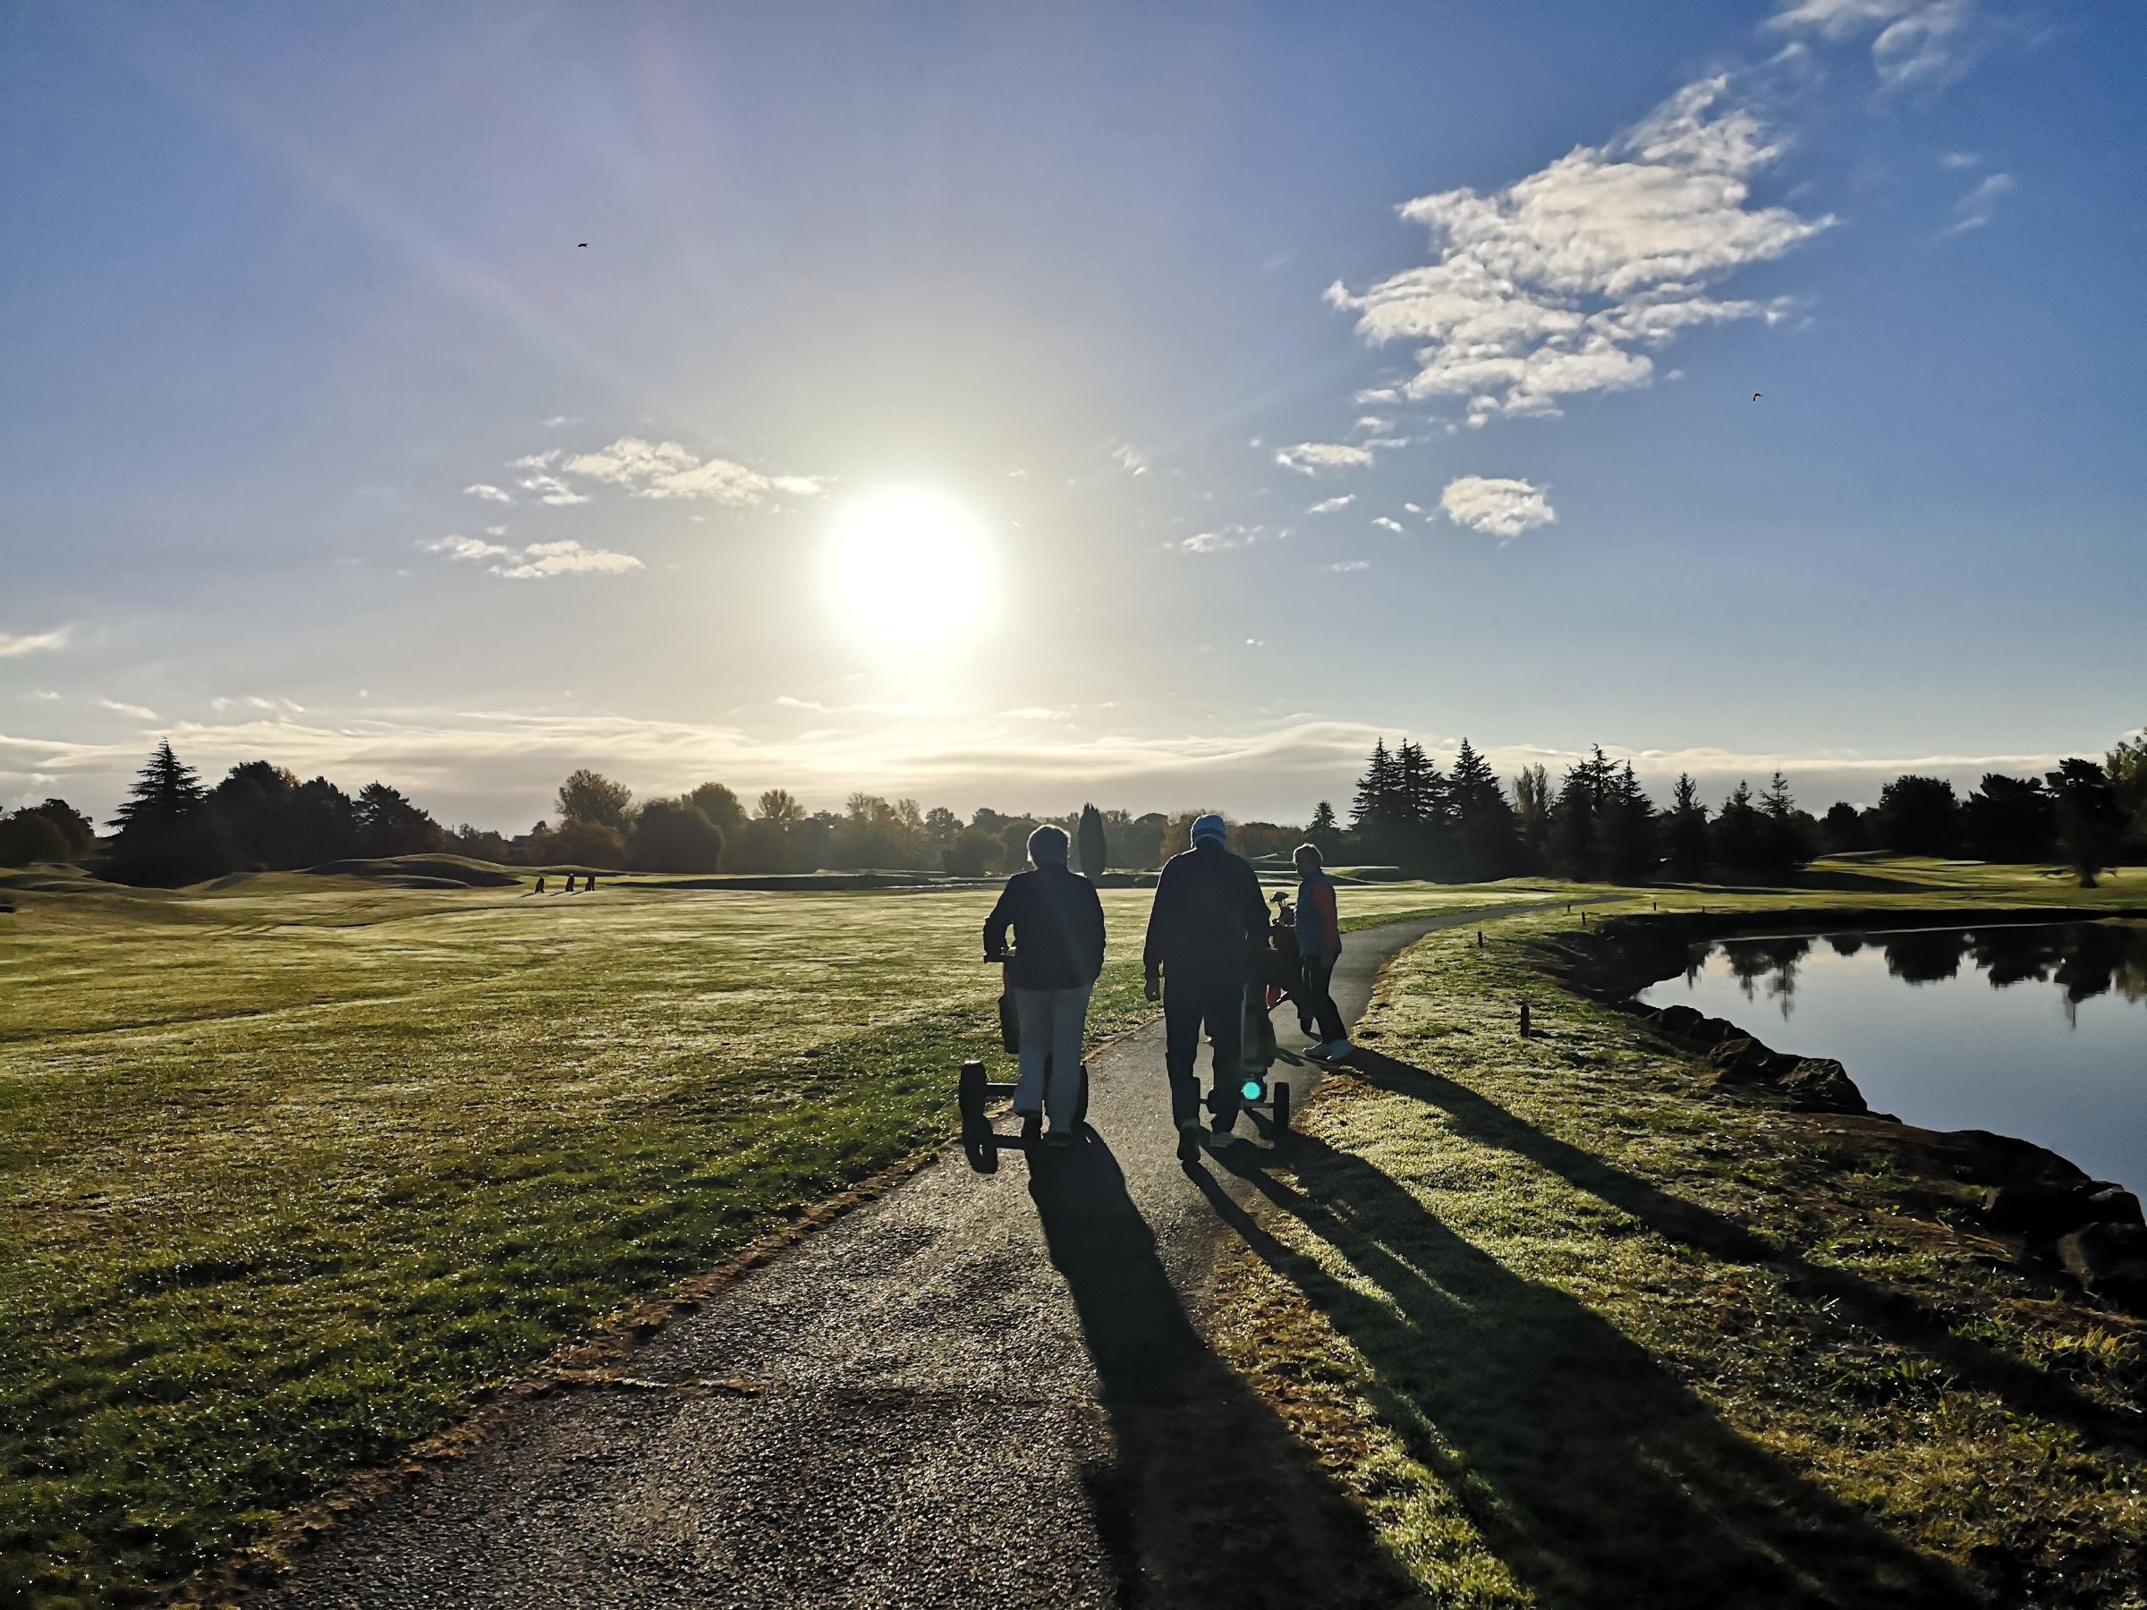
[[[1662,904],[2147,906],[2141,869],[1829,872],[1907,882]],[[1280,1211],[1237,1215],[1226,1357],[1441,1606],[2143,1604],[2147,1324],[2012,1269],[1885,1125],[1703,1101],[1544,972],[1576,921],[1398,960],[1247,1170]]]

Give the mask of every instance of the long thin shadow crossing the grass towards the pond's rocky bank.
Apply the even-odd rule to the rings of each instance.
[[[1814,1303],[1834,1303],[1844,1320],[1853,1320],[1900,1348],[1922,1352],[1945,1367],[1962,1387],[2003,1397],[2016,1410],[2061,1421],[2095,1443],[2126,1449],[2141,1445],[2138,1425],[2126,1423],[2072,1385],[2007,1352],[1956,1335],[1943,1316],[1932,1314],[1907,1292],[1874,1286],[1846,1269],[1829,1269],[1799,1258],[1713,1209],[1670,1196],[1638,1174],[1537,1129],[1466,1084],[1365,1050],[1350,1058],[1350,1071],[1381,1091],[1443,1108],[1458,1136],[1509,1151],[1561,1174],[1582,1191],[1623,1209],[1666,1241],[1722,1262],[1765,1262],[1780,1269],[1791,1286]]]

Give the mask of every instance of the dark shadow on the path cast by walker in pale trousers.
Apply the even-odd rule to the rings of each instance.
[[[1084,1473],[1121,1604],[1187,1610],[1421,1604],[1363,1513],[1207,1346],[1093,1131],[1028,1194],[1080,1312],[1116,1458]]]

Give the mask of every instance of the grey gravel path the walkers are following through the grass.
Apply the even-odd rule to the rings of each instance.
[[[1477,921],[1350,934],[1344,1015],[1398,949]],[[1316,1078],[1275,1071],[1297,1097]],[[1091,1084],[1084,1144],[1037,1168],[1007,1151],[990,1176],[949,1148],[659,1331],[629,1382],[530,1402],[249,1604],[1406,1599],[1361,1516],[1200,1337],[1224,1234],[1174,1157],[1162,1024],[1093,1058]]]

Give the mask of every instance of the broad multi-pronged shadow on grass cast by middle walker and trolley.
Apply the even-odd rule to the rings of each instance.
[[[1539,1604],[1960,1606],[1943,1561],[1724,1425],[1574,1297],[1522,1279],[1393,1179],[1310,1136],[1299,1185],[1235,1174],[1376,1292],[1290,1249],[1207,1174],[1215,1213],[1363,1355],[1372,1400]]]

